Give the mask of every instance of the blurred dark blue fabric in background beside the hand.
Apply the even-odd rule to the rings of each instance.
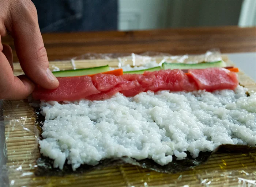
[[[117,30],[117,0],[32,0],[45,32]]]

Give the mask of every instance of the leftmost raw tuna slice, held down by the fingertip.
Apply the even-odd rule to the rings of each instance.
[[[93,85],[91,77],[88,76],[57,79],[60,82],[59,87],[54,90],[37,87],[32,93],[33,98],[45,101],[74,101],[100,93]]]

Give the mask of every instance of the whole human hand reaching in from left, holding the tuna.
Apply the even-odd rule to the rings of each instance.
[[[13,74],[11,47],[1,43],[8,32],[25,75]],[[35,84],[46,89],[59,86],[49,70],[35,6],[31,0],[0,0],[0,99],[25,99]]]

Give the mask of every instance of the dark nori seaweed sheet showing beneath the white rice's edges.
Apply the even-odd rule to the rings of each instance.
[[[39,108],[35,108],[35,118],[36,122],[35,125],[37,126],[40,136],[42,133],[42,126],[44,125],[44,116],[40,114]],[[42,137],[41,137],[42,138]],[[156,172],[161,173],[177,173],[186,171],[192,168],[195,168],[198,165],[201,165],[205,163],[209,157],[218,152],[218,153],[249,153],[249,152],[255,152],[256,147],[250,147],[246,145],[220,145],[217,150],[213,152],[200,152],[199,156],[195,159],[192,158],[192,156],[187,152],[187,157],[183,160],[177,160],[175,156],[173,156],[173,161],[166,165],[159,165],[155,163],[155,161],[151,159],[144,159],[144,160],[136,160],[131,157],[121,157],[116,159],[105,159],[101,160],[99,164],[92,166],[83,164],[79,168],[76,169],[76,171],[73,171],[70,164],[67,164],[67,161],[64,164],[63,170],[60,170],[59,168],[53,167],[53,161],[49,157],[45,157],[41,155],[37,159],[37,170],[35,171],[36,176],[65,176],[69,174],[81,174],[93,170],[100,170],[104,167],[110,167],[110,166],[118,166],[123,164],[131,164],[136,165],[142,168],[146,168],[149,170],[153,170]]]

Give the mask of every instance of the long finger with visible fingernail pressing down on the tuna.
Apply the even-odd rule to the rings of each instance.
[[[48,68],[48,57],[34,4],[30,0],[15,3],[11,11],[11,25],[7,29],[14,38],[20,66],[33,82],[46,89],[55,89],[59,86],[59,81]]]

